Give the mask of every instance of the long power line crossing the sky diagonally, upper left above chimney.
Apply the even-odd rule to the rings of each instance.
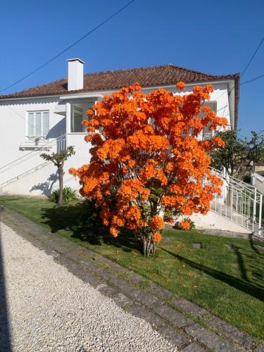
[[[30,73],[28,73],[27,75],[25,75],[24,77],[20,78],[20,80],[17,80],[15,82],[13,82],[12,84],[10,84],[8,87],[2,89],[0,91],[4,92],[6,89],[11,88],[13,86],[15,86],[15,84],[18,84],[19,82],[25,80],[25,78],[30,77],[31,75],[33,75],[34,73],[36,73],[37,71],[41,70],[42,68],[44,68],[44,66],[48,65],[49,63],[51,63],[51,61],[54,61],[56,58],[58,58],[58,56],[61,56],[62,54],[65,53],[65,51],[68,51],[70,48],[72,48],[73,46],[75,46],[77,43],[80,43],[84,38],[88,37],[89,34],[92,34],[94,31],[98,30],[102,25],[104,25],[105,23],[107,23],[109,20],[111,20],[113,17],[115,17],[116,15],[118,15],[118,13],[120,13],[121,11],[125,10],[125,8],[127,8],[127,6],[130,6],[130,4],[132,4],[135,0],[131,0],[130,2],[128,2],[125,6],[122,6],[122,8],[120,8],[118,11],[116,11],[115,13],[113,13],[113,15],[109,16],[108,18],[106,18],[106,20],[103,20],[103,22],[101,22],[99,25],[96,25],[96,27],[94,27],[92,30],[90,30],[88,33],[84,34],[82,37],[80,37],[80,39],[77,39],[76,42],[74,42],[73,44],[67,46],[67,48],[65,48],[63,51],[61,51],[60,53],[56,54],[53,58],[49,59],[48,61],[46,61],[45,63],[43,63],[42,65],[40,65],[38,68],[36,68],[35,70],[31,71]]]

